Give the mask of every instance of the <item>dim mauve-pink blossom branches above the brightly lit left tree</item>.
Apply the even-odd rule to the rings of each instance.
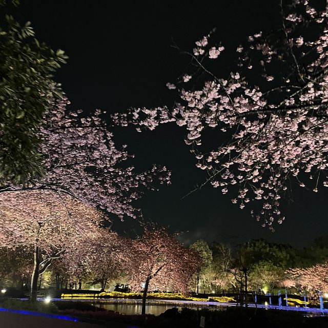
[[[142,187],[154,189],[155,180],[169,182],[166,168],[153,166],[147,172],[135,172],[124,166],[131,158],[117,150],[113,135],[101,120],[100,111],[90,117],[78,117],[69,112],[67,100],[59,101],[45,117],[47,124],[40,132],[40,153],[47,174],[30,179],[25,185],[12,185],[0,180],[0,193],[21,190],[52,190],[66,193],[79,201],[116,214],[135,217],[132,201],[139,197]]]

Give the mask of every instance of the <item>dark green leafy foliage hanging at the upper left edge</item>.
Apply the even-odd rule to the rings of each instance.
[[[0,27],[0,185],[44,174],[38,132],[54,99],[64,96],[52,74],[66,58],[63,50],[39,43],[30,22],[20,26],[6,15]]]

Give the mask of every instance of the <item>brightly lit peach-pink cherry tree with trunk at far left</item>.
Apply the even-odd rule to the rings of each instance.
[[[95,238],[103,221],[101,212],[49,190],[0,194],[0,218],[0,247],[33,250],[32,300],[39,275],[67,250],[83,248],[87,236]]]

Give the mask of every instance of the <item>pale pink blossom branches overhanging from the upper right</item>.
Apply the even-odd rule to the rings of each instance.
[[[271,230],[284,220],[279,206],[291,181],[314,192],[328,187],[328,10],[319,1],[277,3],[280,26],[236,46],[229,76],[220,73],[225,49],[212,31],[184,52],[190,67],[177,83],[167,84],[178,97],[172,108],[113,116],[138,131],[167,122],[186,127],[186,144],[197,167],[208,173],[204,183],[223,194],[237,188],[232,202],[241,209],[259,200],[254,216]],[[213,148],[206,141],[209,130],[226,141]]]

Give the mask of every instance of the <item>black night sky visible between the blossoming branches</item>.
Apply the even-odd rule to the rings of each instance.
[[[165,85],[174,82],[186,64],[170,47],[172,39],[189,50],[216,27],[222,45],[236,49],[247,35],[274,28],[278,7],[274,0],[22,0],[15,17],[22,23],[30,20],[38,39],[69,55],[56,79],[73,108],[114,113],[172,103]],[[233,67],[228,59],[222,59],[222,70]],[[173,231],[188,230],[183,234],[187,242],[203,238],[236,244],[262,237],[303,246],[328,234],[327,190],[314,194],[296,189],[294,201],[286,202],[285,222],[271,233],[250,217],[249,209],[240,210],[220,190],[204,187],[181,200],[205,177],[183,143],[185,130],[171,124],[142,134],[133,128],[114,132],[117,145],[128,144],[135,154],[137,168],[156,162],[172,171],[172,186],[147,192],[138,206],[146,219]],[[127,219],[113,228],[129,230],[134,225]]]

